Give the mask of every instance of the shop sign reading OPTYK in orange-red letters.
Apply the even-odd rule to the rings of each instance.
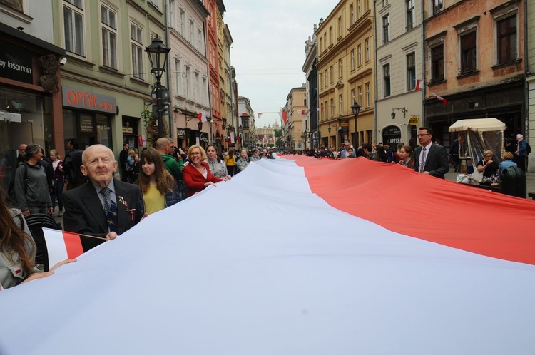
[[[116,114],[116,99],[112,96],[81,91],[68,86],[61,86],[61,91],[63,106]]]

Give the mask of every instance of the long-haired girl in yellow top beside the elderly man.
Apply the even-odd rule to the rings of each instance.
[[[145,212],[149,215],[175,205],[181,200],[178,185],[168,173],[158,150],[148,148],[141,153],[139,187],[143,192]]]

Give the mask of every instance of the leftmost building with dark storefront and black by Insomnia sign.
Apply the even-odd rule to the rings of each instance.
[[[7,191],[21,143],[63,150],[60,61],[52,1],[0,1],[0,183]]]

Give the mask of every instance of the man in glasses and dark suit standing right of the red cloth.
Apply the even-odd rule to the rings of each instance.
[[[448,172],[448,153],[442,145],[432,143],[433,131],[422,127],[418,131],[420,146],[414,150],[414,170],[444,179]]]

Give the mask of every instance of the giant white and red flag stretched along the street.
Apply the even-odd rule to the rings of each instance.
[[[0,354],[534,354],[534,210],[363,158],[263,159],[0,292]]]

